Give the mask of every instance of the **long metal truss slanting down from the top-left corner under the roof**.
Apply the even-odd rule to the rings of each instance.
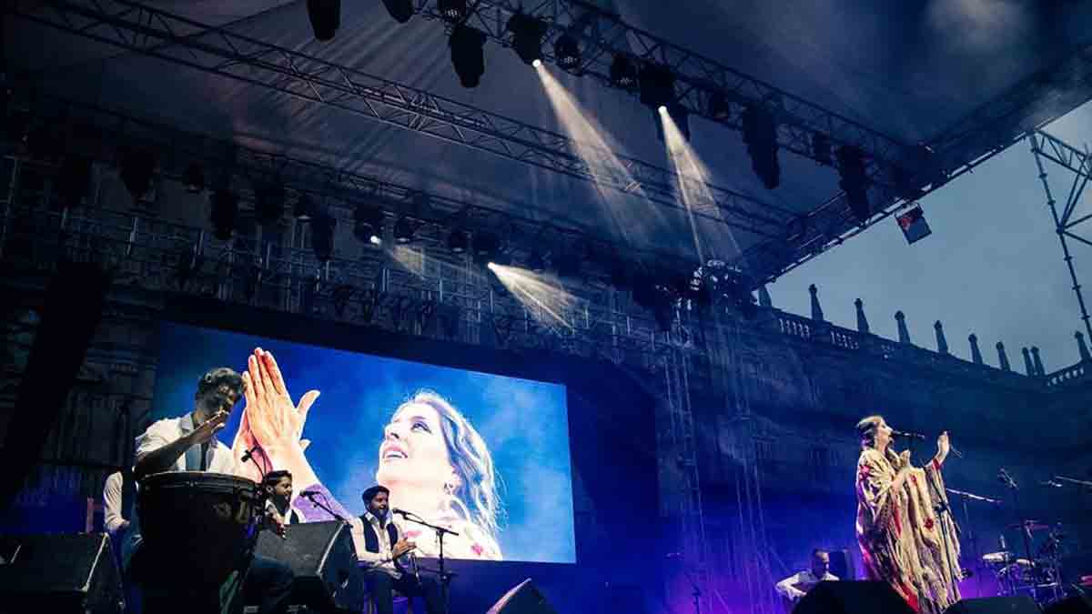
[[[768,239],[780,238],[795,215],[709,184],[713,202],[687,211],[677,194],[682,179],[672,170],[612,152],[628,177],[602,173],[579,155],[577,142],[565,134],[129,0],[16,0],[5,11],[73,35],[640,194]]]

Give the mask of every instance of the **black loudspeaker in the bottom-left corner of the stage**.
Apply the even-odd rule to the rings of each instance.
[[[0,614],[107,614],[124,607],[105,533],[5,535]]]

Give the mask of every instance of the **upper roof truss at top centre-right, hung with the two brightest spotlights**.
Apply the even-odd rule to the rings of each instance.
[[[437,0],[415,0],[415,10],[428,19],[442,20]],[[676,76],[677,102],[688,113],[741,130],[736,113],[719,113],[711,108],[712,96],[726,104],[761,105],[778,117],[778,144],[787,151],[830,164],[817,156],[811,138],[819,133],[834,145],[856,145],[876,163],[894,163],[903,157],[904,145],[893,137],[874,130],[859,121],[827,110],[753,76],[731,69],[712,58],[684,49],[652,33],[625,23],[582,0],[477,0],[464,20],[505,46],[511,46],[508,21],[522,12],[541,17],[547,31],[543,38],[543,59],[555,62],[554,43],[569,35],[580,43],[581,62],[570,72],[591,76],[605,86],[636,92],[616,85],[610,80],[610,63],[616,56],[652,61],[670,68]]]

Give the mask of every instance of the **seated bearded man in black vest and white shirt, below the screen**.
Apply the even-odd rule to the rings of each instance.
[[[383,486],[372,486],[364,492],[367,511],[360,517],[364,533],[364,552],[357,553],[360,562],[368,566],[365,581],[371,592],[377,614],[394,611],[394,595],[399,591],[406,597],[423,597],[428,614],[443,614],[443,597],[435,578],[415,574],[408,566],[408,557],[416,546],[403,536],[402,528],[389,518],[388,497],[390,491]]]

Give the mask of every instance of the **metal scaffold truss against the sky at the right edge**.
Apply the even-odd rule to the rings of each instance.
[[[1077,205],[1084,194],[1084,188],[1088,186],[1089,179],[1092,179],[1092,152],[1080,151],[1061,139],[1042,130],[1030,132],[1028,134],[1028,142],[1035,157],[1040,181],[1042,181],[1043,190],[1046,192],[1046,204],[1051,209],[1051,216],[1054,220],[1054,231],[1061,243],[1063,259],[1066,261],[1066,268],[1069,270],[1069,279],[1073,282],[1073,293],[1077,295],[1078,305],[1080,305],[1084,331],[1089,338],[1092,338],[1092,323],[1089,321],[1088,305],[1084,303],[1084,293],[1081,292],[1081,284],[1077,279],[1077,268],[1073,265],[1073,255],[1069,249],[1070,240],[1092,247],[1092,236],[1081,236],[1077,231],[1078,227],[1083,228],[1090,225],[1089,222],[1092,221],[1092,213],[1081,215],[1076,220],[1073,219]],[[1061,203],[1063,208],[1060,212],[1058,211],[1059,203],[1054,198],[1051,184],[1047,181],[1044,161],[1053,162],[1073,175],[1072,182],[1069,185],[1069,193],[1066,194],[1065,202]]]

